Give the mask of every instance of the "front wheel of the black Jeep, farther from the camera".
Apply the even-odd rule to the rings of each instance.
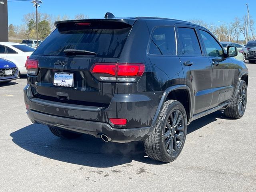
[[[233,119],[240,119],[244,115],[246,104],[247,85],[246,82],[240,80],[232,104],[228,108],[224,109],[225,116]]]

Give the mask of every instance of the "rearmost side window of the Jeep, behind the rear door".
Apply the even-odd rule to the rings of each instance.
[[[155,28],[150,40],[149,54],[176,55],[176,40],[174,27]]]

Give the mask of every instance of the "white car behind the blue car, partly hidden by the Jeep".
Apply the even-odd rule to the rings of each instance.
[[[16,64],[20,74],[27,74],[25,68],[27,58],[34,52],[34,48],[11,42],[0,42],[0,58],[9,60]]]

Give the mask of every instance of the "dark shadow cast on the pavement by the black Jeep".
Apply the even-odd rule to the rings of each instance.
[[[188,126],[188,134],[222,116],[224,116],[223,112],[217,111],[193,121]],[[29,152],[72,164],[98,168],[128,164],[132,160],[146,164],[163,164],[146,156],[143,142],[125,144],[104,142],[89,135],[83,135],[75,140],[65,140],[54,136],[47,126],[40,124],[21,128],[10,136],[16,145]]]

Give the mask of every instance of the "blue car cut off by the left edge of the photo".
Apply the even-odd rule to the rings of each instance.
[[[0,59],[0,82],[10,82],[19,78],[19,69],[13,63],[5,59]]]

